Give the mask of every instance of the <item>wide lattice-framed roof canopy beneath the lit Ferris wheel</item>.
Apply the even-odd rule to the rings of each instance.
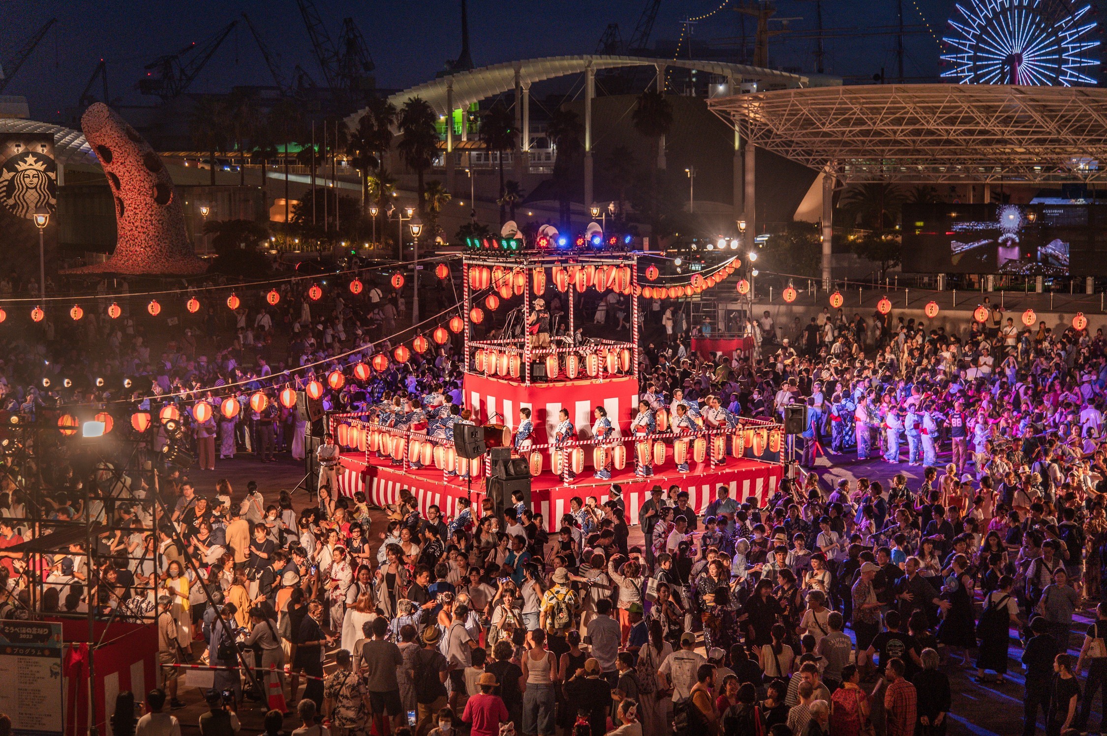
[[[1107,179],[1107,90],[1098,87],[891,84],[707,105],[749,143],[848,183]]]

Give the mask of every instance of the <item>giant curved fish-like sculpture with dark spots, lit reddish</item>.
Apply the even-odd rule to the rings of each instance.
[[[162,158],[103,103],[89,106],[81,129],[96,152],[115,198],[115,252],[103,263],[66,273],[185,276],[203,273],[185,232],[185,215]]]

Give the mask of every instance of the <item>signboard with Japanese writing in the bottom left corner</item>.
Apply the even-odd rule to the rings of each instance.
[[[0,713],[15,736],[62,736],[62,625],[0,621]]]

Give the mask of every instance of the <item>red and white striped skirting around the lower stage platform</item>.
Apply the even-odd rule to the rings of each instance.
[[[371,462],[370,462],[371,459]],[[420,510],[426,512],[432,504],[442,509],[449,519],[456,514],[456,501],[468,495],[465,480],[452,477],[446,480],[442,470],[436,468],[404,469],[401,465],[384,465],[387,460],[366,459],[364,453],[348,453],[342,456],[342,473],[339,486],[345,496],[355,491],[365,491],[365,498],[371,504],[384,506],[400,500],[400,491],[407,488],[420,501]],[[379,463],[381,463],[379,465]],[[623,489],[623,501],[627,505],[628,524],[638,524],[638,509],[649,498],[650,489],[658,485],[668,489],[677,485],[689,491],[689,505],[702,514],[707,504],[715,498],[715,489],[725,485],[731,489],[731,498],[744,501],[753,496],[757,504],[765,500],[776,490],[784,474],[784,466],[778,463],[767,463],[749,458],[728,458],[721,468],[712,468],[710,463],[691,463],[687,473],[679,471],[671,463],[659,469],[651,478],[638,478],[633,467],[614,470],[611,480],[597,480],[591,468],[586,468],[577,479],[563,484],[558,476],[542,473],[531,481],[530,497],[535,511],[542,515],[546,528],[554,531],[560,527],[562,514],[569,511],[569,499],[573,496],[596,497],[599,502],[608,498],[608,488],[618,483]],[[480,501],[484,500],[484,478],[473,479],[474,516],[480,516]]]

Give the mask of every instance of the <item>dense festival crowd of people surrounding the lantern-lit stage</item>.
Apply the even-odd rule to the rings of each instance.
[[[303,427],[276,401],[282,372],[322,361],[324,375],[328,359],[387,349],[403,305],[377,299],[392,309],[340,299],[312,318],[290,288],[278,309],[236,314],[238,342],[208,350],[210,363],[215,326],[151,361],[142,335],[124,350],[105,322],[95,334],[120,350],[87,363],[86,393],[103,398],[101,371],[142,376],[135,390],[155,407],[190,388],[213,401],[228,394],[220,385],[271,391],[265,412],[244,403],[226,422],[186,419],[199,465],[244,450],[302,457]],[[379,325],[364,322],[377,312]],[[283,325],[283,354],[271,346],[278,328],[258,329],[263,314]],[[623,326],[624,315],[610,319]],[[765,497],[721,486],[700,509],[680,486],[658,485],[632,528],[618,484],[547,524],[521,498],[504,509],[463,498],[445,518],[405,494],[379,512],[324,471],[318,502],[298,509],[263,476],[240,494],[199,489],[179,470],[74,469],[74,458],[42,468],[56,475],[49,500],[0,488],[0,548],[31,536],[40,509],[156,532],[102,538],[93,569],[80,543],[39,569],[0,551],[0,615],[34,604],[39,576],[46,610],[156,621],[169,708],[180,705],[179,665],[214,667],[205,734],[234,727],[234,709],[256,698],[278,716],[297,704],[309,736],[323,718],[340,736],[940,736],[958,668],[1007,694],[1021,683],[1026,736],[1039,712],[1051,735],[1097,730],[1107,607],[1090,625],[1079,616],[1107,584],[1101,331],[1018,329],[999,309],[961,334],[840,310],[786,329],[765,312],[748,326],[747,355],[704,356],[661,335],[643,345],[640,411],[783,419],[799,404],[807,468],[893,465],[834,484],[797,470]],[[81,359],[62,357],[56,375]],[[323,402],[446,432],[472,421],[462,375],[456,346],[435,345]],[[49,410],[48,392],[10,388],[10,411]],[[332,460],[333,439],[319,453]],[[117,484],[127,502],[97,500]],[[1020,660],[1024,682],[1008,673]],[[147,703],[162,713],[158,697]]]

